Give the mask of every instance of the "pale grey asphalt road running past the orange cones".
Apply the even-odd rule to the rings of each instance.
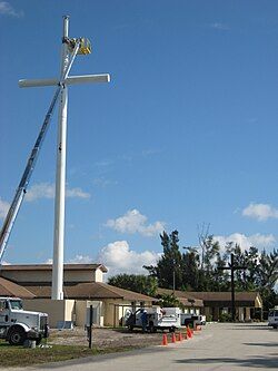
[[[266,324],[214,323],[207,324],[192,339],[170,343],[168,346],[152,346],[24,370],[278,370],[278,330],[267,328]]]

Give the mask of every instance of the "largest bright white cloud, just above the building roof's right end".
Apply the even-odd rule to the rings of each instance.
[[[147,274],[143,265],[156,265],[159,254],[151,251],[138,253],[129,248],[127,241],[116,241],[101,248],[97,261],[108,269],[108,275],[119,273]]]

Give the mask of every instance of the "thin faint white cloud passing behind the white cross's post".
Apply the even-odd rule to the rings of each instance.
[[[83,192],[81,188],[66,189],[66,197],[70,198],[89,198],[90,194]],[[30,187],[26,194],[26,201],[32,202],[40,198],[54,198],[54,184],[39,183]]]

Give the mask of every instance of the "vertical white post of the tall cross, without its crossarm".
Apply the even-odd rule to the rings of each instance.
[[[63,36],[61,50],[61,80],[69,66],[69,49],[66,38],[69,36],[69,17],[63,17]],[[52,300],[62,300],[63,283],[63,240],[64,240],[64,195],[66,195],[66,150],[67,150],[67,108],[68,88],[61,86],[58,119],[58,148],[56,170],[54,241],[52,265]]]

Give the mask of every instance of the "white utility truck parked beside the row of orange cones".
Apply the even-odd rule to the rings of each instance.
[[[146,311],[147,318],[146,329],[150,332],[156,332],[157,330],[169,330],[169,332],[175,332],[176,329],[180,328],[179,307],[145,307],[138,309],[127,318],[126,326],[128,326],[130,331],[135,328],[143,328],[143,311]]]

